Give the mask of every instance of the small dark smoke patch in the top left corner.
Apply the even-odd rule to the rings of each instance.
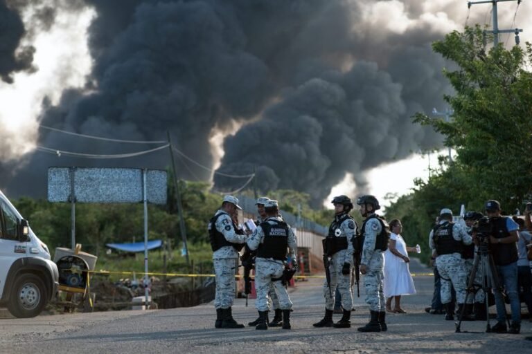
[[[6,0],[0,0],[0,77],[8,84],[13,82],[13,73],[34,70],[31,64],[35,48],[33,46],[19,48],[24,34],[24,24],[19,12],[15,8],[8,7]]]

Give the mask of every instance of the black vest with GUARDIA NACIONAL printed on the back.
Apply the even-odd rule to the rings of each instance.
[[[270,224],[270,221],[273,221],[274,224]],[[260,223],[260,227],[264,231],[264,240],[258,246],[257,257],[284,261],[288,247],[287,223],[273,219]]]

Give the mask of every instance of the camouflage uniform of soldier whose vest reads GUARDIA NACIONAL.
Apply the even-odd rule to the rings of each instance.
[[[274,225],[274,222],[271,220],[283,221],[283,219],[278,217],[267,218],[268,223]],[[261,243],[264,240],[264,231],[263,228],[259,225],[254,233],[247,240],[247,246],[250,250],[257,250]],[[292,231],[290,226],[288,227],[288,248],[290,250],[290,257],[294,258],[296,254],[296,236]],[[281,310],[290,310],[292,308],[292,301],[288,296],[286,288],[283,286],[281,279],[272,281],[272,279],[281,278],[283,275],[283,270],[285,269],[285,264],[283,261],[279,261],[272,258],[261,258],[256,257],[255,259],[255,289],[257,292],[257,299],[255,301],[255,306],[259,311],[268,311],[268,292],[270,286],[274,285],[278,295],[279,307]]]

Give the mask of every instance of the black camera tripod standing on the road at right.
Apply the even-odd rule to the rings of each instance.
[[[473,263],[473,268],[471,270],[471,274],[469,275],[468,288],[465,292],[465,303],[464,306],[462,306],[460,320],[458,324],[456,324],[456,333],[460,333],[460,326],[465,315],[465,304],[468,302],[468,297],[472,295],[473,299],[475,299],[475,288],[481,288],[484,290],[484,302],[486,304],[486,333],[491,332],[488,294],[493,289],[493,291],[501,295],[501,297],[503,296],[502,286],[499,282],[499,277],[497,277],[497,268],[495,268],[495,262],[493,261],[493,256],[488,248],[488,241],[485,237],[480,238],[480,243],[477,252],[475,253],[477,254],[477,257],[475,257],[475,262]],[[475,276],[477,272],[481,272],[480,274],[483,274],[482,284],[480,287],[475,287]],[[508,326],[510,326],[510,321],[506,314],[506,307],[504,309],[504,317],[506,318],[506,322],[508,322]]]

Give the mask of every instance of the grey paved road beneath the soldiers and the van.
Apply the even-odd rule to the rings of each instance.
[[[415,259],[411,271],[429,272]],[[532,353],[532,324],[527,319],[521,335],[484,333],[486,322],[463,322],[462,330],[469,333],[454,333],[454,322],[423,310],[432,297],[432,277],[414,281],[418,294],[403,297],[407,314],[387,315],[387,333],[357,332],[369,319],[363,294],[355,299],[355,328],[313,328],[324,305],[321,280],[311,279],[297,283],[291,292],[292,330],[215,329],[211,304],[0,319],[0,353]],[[233,314],[238,322],[255,319],[254,301],[246,308],[244,300],[237,299]]]

